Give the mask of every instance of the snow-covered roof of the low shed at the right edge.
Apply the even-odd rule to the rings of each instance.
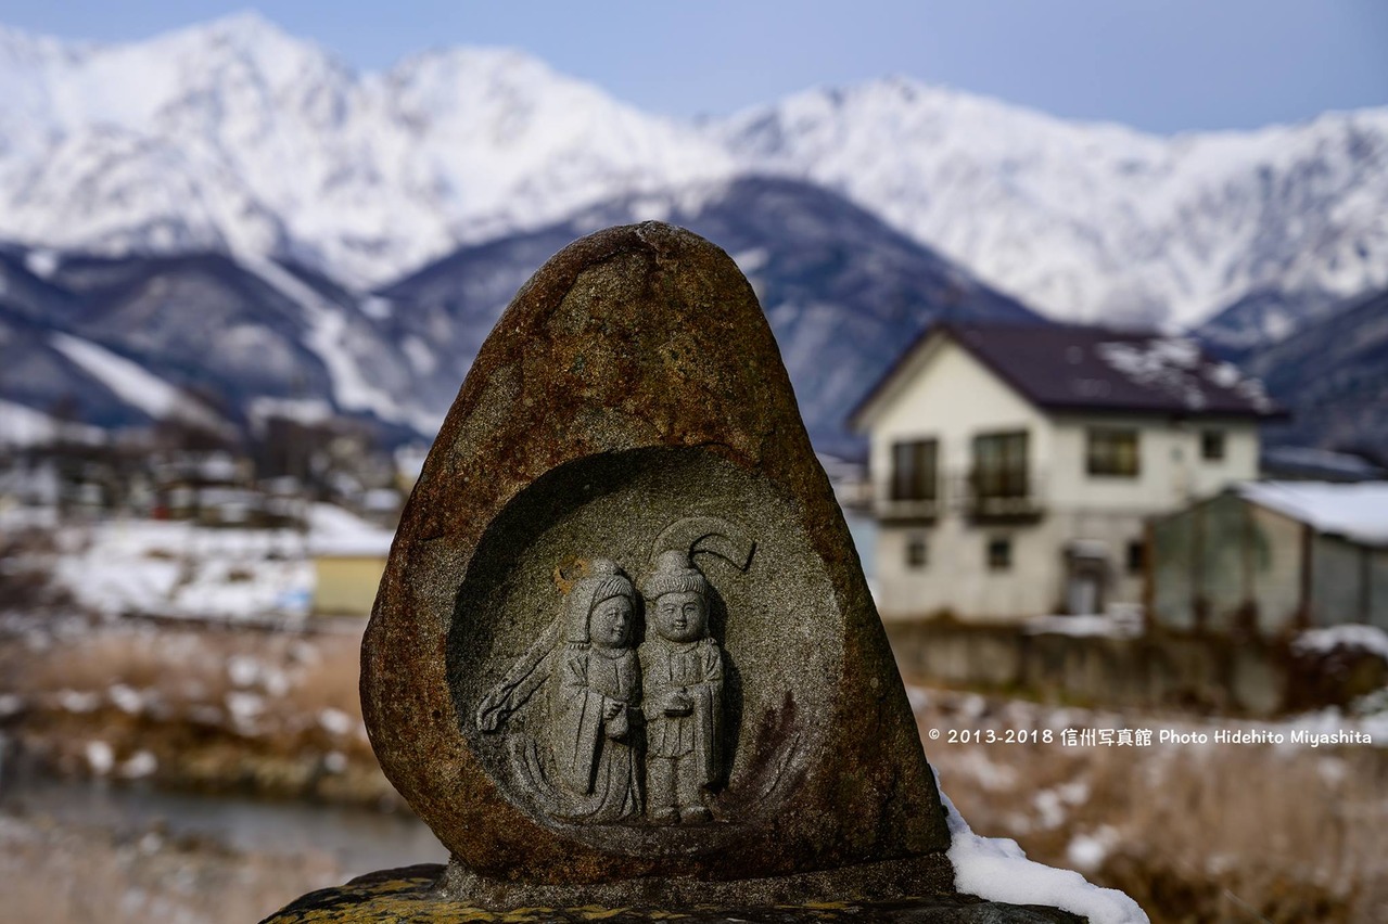
[[[1246,481],[1244,499],[1366,545],[1388,545],[1388,481]]]

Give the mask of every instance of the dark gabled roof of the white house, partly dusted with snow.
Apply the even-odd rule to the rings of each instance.
[[[917,337],[867,393],[851,416],[855,426],[938,337],[954,340],[1023,398],[1051,411],[1285,416],[1262,383],[1185,337],[1074,325],[942,323]]]

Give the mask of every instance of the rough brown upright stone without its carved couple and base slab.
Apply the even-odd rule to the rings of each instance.
[[[694,549],[726,666],[713,820],[555,817],[479,703],[562,612],[566,567],[601,556],[640,581],[691,516],[756,544],[745,572]],[[405,508],[361,688],[387,777],[475,891],[879,862],[906,863],[904,893],[952,887],[934,780],[776,343],[736,264],[688,232],[600,232],[516,296]],[[543,741],[543,703],[525,709],[518,728]]]

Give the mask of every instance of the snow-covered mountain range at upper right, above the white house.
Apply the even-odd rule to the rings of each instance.
[[[897,78],[716,133],[1056,316],[1187,327],[1256,289],[1388,284],[1388,108],[1163,139]]]

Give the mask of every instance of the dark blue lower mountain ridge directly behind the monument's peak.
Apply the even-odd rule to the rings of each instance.
[[[0,248],[0,401],[103,426],[168,418],[255,434],[271,418],[434,434],[520,284],[594,228],[652,214],[723,241],[756,287],[816,447],[931,320],[1042,320],[870,212],[784,178],[700,183],[448,257],[375,294],[258,255]],[[3,409],[3,408],[0,408]]]

